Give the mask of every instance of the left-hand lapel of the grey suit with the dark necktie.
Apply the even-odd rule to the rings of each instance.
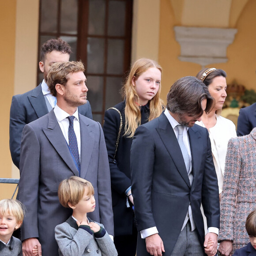
[[[63,136],[60,125],[58,124],[53,110],[49,112],[48,120],[48,127],[43,128],[45,136],[49,139],[49,142],[53,145],[60,157],[68,165],[74,175],[79,176],[78,169],[75,166],[73,158],[68,149],[66,139]]]

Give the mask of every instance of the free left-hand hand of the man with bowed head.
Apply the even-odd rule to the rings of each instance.
[[[154,256],[162,256],[162,252],[165,252],[163,241],[158,234],[146,237],[146,248],[147,252]]]

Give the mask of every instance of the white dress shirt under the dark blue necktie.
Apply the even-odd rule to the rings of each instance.
[[[56,104],[55,108],[53,109],[56,119],[60,125],[60,129],[64,135],[68,143],[68,127],[69,127],[69,120],[67,117],[70,116],[67,112],[61,109],[58,104]],[[79,124],[79,117],[78,117],[78,109],[76,109],[75,113],[72,115],[74,116],[74,131],[77,140],[77,147],[79,151],[79,160],[81,159],[81,135],[80,135],[80,124]],[[81,162],[81,160],[80,160]]]

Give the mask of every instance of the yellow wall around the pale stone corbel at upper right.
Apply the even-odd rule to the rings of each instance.
[[[256,1],[249,0],[245,4],[245,8],[237,18],[236,24],[234,24],[233,13],[238,13],[236,8],[238,9],[237,6],[231,5],[230,21],[238,31],[233,44],[227,48],[228,62],[211,64],[207,67],[225,70],[227,72],[227,83],[236,79],[238,83],[243,84],[246,88],[256,89]],[[174,13],[175,10],[176,12]],[[158,61],[163,68],[161,97],[164,100],[166,100],[166,95],[174,81],[186,75],[196,75],[201,69],[199,64],[178,60],[180,45],[175,40],[173,27],[183,26],[183,24],[181,24],[180,20],[181,15],[177,15],[177,13],[177,6],[173,6],[171,0],[161,0]],[[178,20],[175,14],[179,18]],[[218,19],[217,15],[216,19]],[[186,23],[188,26],[187,19]],[[194,21],[191,22],[191,26],[193,25]],[[207,23],[205,26],[207,26]]]

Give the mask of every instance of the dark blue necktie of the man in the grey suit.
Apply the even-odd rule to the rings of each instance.
[[[69,127],[68,127],[68,144],[71,153],[73,154],[73,157],[75,159],[77,169],[80,174],[80,161],[79,161],[79,151],[78,151],[78,146],[77,146],[77,140],[75,136],[75,131],[74,131],[74,116],[69,116]]]

